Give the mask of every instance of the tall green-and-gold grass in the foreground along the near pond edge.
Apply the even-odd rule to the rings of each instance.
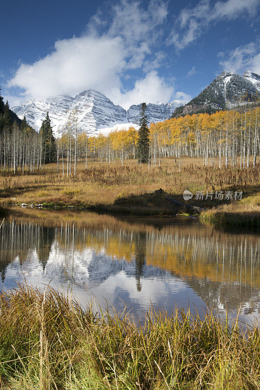
[[[62,292],[0,295],[2,389],[260,389],[260,331],[176,310],[83,311]]]

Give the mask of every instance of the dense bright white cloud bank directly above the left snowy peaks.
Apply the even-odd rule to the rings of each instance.
[[[24,88],[25,98],[75,95],[90,87],[107,93],[120,87],[125,57],[119,37],[63,39],[45,58],[32,65],[22,63],[9,86]]]

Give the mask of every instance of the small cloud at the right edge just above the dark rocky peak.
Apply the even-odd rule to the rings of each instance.
[[[247,45],[239,46],[229,53],[219,53],[220,66],[223,70],[243,73],[251,70],[260,74],[260,44],[250,42]]]

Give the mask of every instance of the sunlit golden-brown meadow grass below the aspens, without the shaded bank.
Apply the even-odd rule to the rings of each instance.
[[[1,173],[0,201],[2,203],[52,203],[63,205],[78,205],[107,210],[113,205],[114,211],[127,211],[129,204],[118,205],[119,198],[131,198],[153,192],[162,188],[166,193],[183,202],[183,191],[243,191],[251,196],[259,192],[260,163],[255,169],[227,169],[222,166],[219,170],[213,167],[203,167],[201,158],[162,158],[161,166],[148,170],[148,164],[141,168],[136,160],[125,160],[108,164],[106,162],[89,162],[87,170],[84,163],[78,164],[77,175],[62,176],[60,165],[57,173],[56,164],[50,164],[44,171],[34,175],[16,175]],[[196,200],[189,203],[200,207],[213,207],[221,203],[215,199]],[[117,203],[117,205],[116,205]],[[116,207],[117,206],[117,207]],[[162,204],[142,204],[149,213],[155,209],[155,214],[169,212]],[[136,213],[141,212],[137,207]],[[133,205],[131,206],[134,211]],[[158,208],[158,209],[157,209]],[[113,210],[111,210],[113,211]]]

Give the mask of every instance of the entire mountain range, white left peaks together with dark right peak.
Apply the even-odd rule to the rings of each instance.
[[[189,103],[183,100],[173,100],[171,103],[147,104],[147,121],[161,122],[175,113],[175,117],[199,112],[224,110],[226,106],[238,104],[245,94],[250,100],[260,92],[260,76],[246,71],[243,76],[232,72],[222,72],[196,98]],[[140,104],[132,105],[128,111],[115,105],[109,98],[93,89],[88,89],[75,98],[59,95],[44,100],[30,100],[21,106],[12,107],[20,117],[25,115],[28,123],[36,130],[40,129],[47,111],[56,135],[60,135],[66,126],[69,116],[77,107],[78,128],[88,134],[106,133],[107,129],[115,129],[131,124],[138,125],[140,120]],[[177,109],[177,110],[176,110]],[[176,110],[176,112],[175,112]]]

